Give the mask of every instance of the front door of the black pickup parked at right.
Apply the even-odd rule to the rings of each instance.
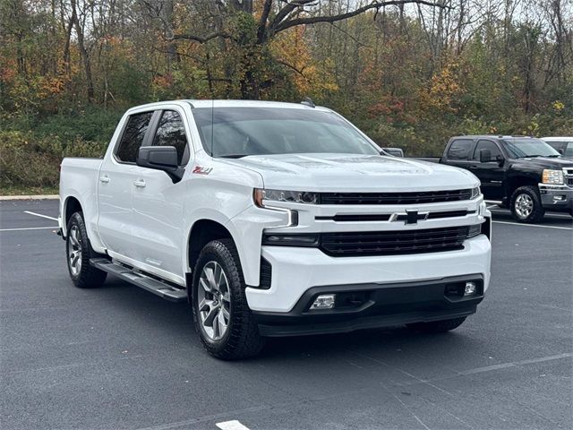
[[[480,151],[490,150],[490,161],[480,162]],[[504,196],[504,156],[499,145],[489,139],[480,139],[475,145],[470,170],[482,182],[483,196],[488,200],[501,200]]]

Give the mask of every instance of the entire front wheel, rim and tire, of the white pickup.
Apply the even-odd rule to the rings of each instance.
[[[203,348],[213,357],[252,357],[264,346],[244,288],[233,241],[220,239],[205,245],[193,271],[192,310]]]

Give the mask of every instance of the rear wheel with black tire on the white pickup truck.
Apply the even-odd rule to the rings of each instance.
[[[91,248],[81,212],[73,213],[68,221],[66,231],[65,257],[73,285],[78,288],[99,287],[106,280],[107,273],[90,265],[90,258],[98,256],[98,254]],[[75,266],[71,251],[80,251],[79,255],[75,254],[77,255]],[[78,265],[77,262],[80,264]]]

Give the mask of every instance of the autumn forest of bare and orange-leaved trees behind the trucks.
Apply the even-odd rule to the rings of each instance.
[[[0,194],[55,191],[133,105],[305,97],[408,156],[573,135],[573,0],[0,0]]]

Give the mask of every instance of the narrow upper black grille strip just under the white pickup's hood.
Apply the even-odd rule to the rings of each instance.
[[[470,200],[472,190],[417,193],[321,193],[321,204],[415,204]]]

